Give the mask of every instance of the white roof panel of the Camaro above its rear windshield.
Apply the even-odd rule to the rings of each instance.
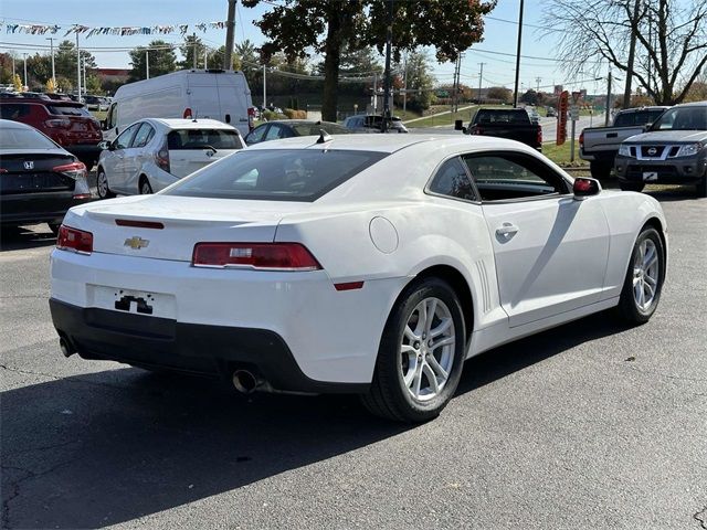
[[[468,147],[469,149],[531,150],[527,146],[504,138],[469,135],[329,135],[333,139],[324,144],[316,142],[316,136],[298,136],[282,140],[263,141],[249,147],[253,149],[342,149],[358,151],[395,152],[418,144],[440,144],[449,147]]]

